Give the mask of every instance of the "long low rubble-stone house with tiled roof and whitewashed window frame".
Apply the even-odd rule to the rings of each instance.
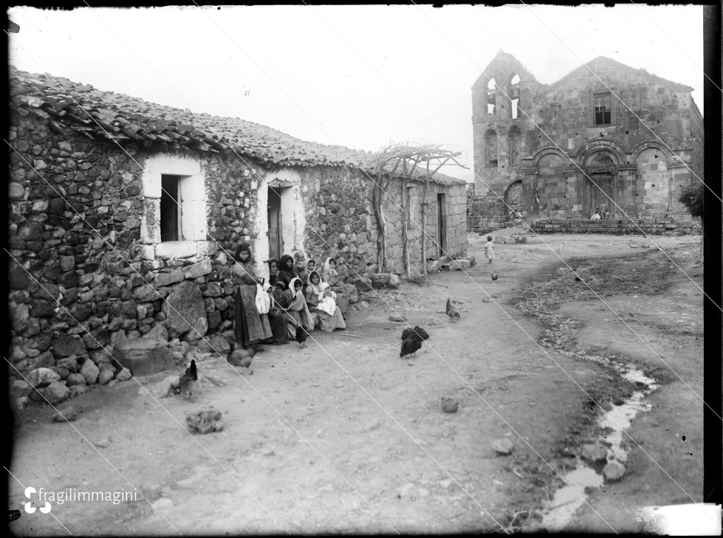
[[[260,274],[297,250],[317,264],[338,253],[348,282],[375,261],[372,155],[68,79],[11,68],[9,81],[9,313],[25,369],[103,360],[101,347],[144,334],[228,329],[241,241]],[[405,231],[419,274],[422,234],[401,230],[400,204],[418,216],[425,177],[392,180],[385,269],[407,272]],[[466,252],[464,185],[429,178],[432,255],[433,240]]]

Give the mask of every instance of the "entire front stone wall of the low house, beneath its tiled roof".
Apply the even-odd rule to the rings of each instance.
[[[121,149],[110,141],[61,134],[43,120],[18,110],[9,131],[15,151],[8,190],[8,306],[11,357],[21,373],[48,367],[65,381],[76,373],[73,364],[85,363],[106,364],[103,368],[115,373],[113,347],[125,339],[192,341],[230,329],[234,251],[241,241],[253,246],[267,240],[259,225],[266,220],[260,189],[270,170],[231,152],[136,144]],[[187,192],[206,222],[194,222],[191,239],[161,241],[158,183],[164,174],[183,170],[194,170],[184,181],[197,181]],[[320,264],[338,251],[354,271],[367,272],[377,252],[369,178],[340,167],[297,170],[310,225],[304,248]],[[384,199],[388,269],[404,273],[397,206],[402,182],[390,185],[392,199]],[[434,183],[429,188],[427,230],[436,230],[436,196],[443,193],[453,256],[466,252],[463,188]],[[206,236],[198,237],[198,230]],[[414,230],[409,235],[410,252],[418,253],[419,236]],[[419,274],[420,258],[411,256],[413,274]],[[257,262],[262,269],[262,260]],[[110,381],[107,375],[104,380]]]

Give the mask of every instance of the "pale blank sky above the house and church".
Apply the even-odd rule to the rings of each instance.
[[[13,7],[10,63],[153,103],[239,117],[322,144],[462,152],[474,181],[471,86],[502,49],[544,84],[597,56],[694,88],[703,7]]]

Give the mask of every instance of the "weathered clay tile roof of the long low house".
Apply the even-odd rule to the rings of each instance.
[[[89,84],[62,77],[33,74],[10,66],[10,103],[51,123],[118,142],[145,145],[163,142],[171,148],[188,147],[207,152],[231,151],[278,166],[372,167],[373,155],[343,146],[306,142],[276,129],[239,118],[193,113],[148,103],[139,97],[96,90]],[[21,112],[22,113],[22,112]],[[414,173],[421,178],[421,173]],[[435,174],[435,183],[463,180]]]

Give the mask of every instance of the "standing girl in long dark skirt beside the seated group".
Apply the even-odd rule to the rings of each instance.
[[[256,309],[257,284],[263,279],[254,272],[254,261],[251,247],[241,243],[236,248],[236,263],[232,272],[236,287],[235,330],[236,346],[244,349],[255,347],[262,340],[273,337],[267,314],[260,314]]]

